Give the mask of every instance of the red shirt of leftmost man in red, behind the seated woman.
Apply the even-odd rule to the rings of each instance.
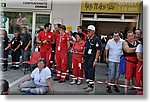
[[[38,34],[38,39],[40,41],[47,40],[48,42],[52,42],[54,40],[54,34],[52,32],[40,31]],[[41,44],[40,51],[45,51],[46,49],[52,49],[52,44],[50,43]]]

